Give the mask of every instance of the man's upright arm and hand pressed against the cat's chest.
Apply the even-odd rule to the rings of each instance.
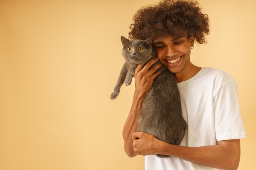
[[[137,155],[132,146],[132,132],[137,131],[137,120],[139,118],[143,99],[150,89],[155,77],[161,73],[155,73],[155,71],[162,66],[161,64],[157,64],[148,70],[150,66],[157,62],[157,60],[157,58],[152,59],[148,61],[145,66],[145,63],[139,64],[135,70],[135,93],[133,96],[132,107],[123,129],[124,150],[129,157],[135,157]]]

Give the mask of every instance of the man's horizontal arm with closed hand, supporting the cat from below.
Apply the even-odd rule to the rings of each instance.
[[[170,155],[225,170],[236,170],[240,161],[240,139],[218,141],[217,145],[191,148],[168,144],[146,132],[134,132],[132,138],[134,151],[138,155]]]

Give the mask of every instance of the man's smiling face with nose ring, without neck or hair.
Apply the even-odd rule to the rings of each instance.
[[[191,47],[194,38],[186,37],[165,37],[154,40],[157,50],[157,58],[172,73],[180,73],[184,68],[189,67]]]

